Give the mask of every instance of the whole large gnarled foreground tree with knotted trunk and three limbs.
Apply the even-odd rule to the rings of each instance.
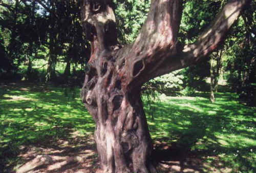
[[[101,172],[155,172],[141,100],[143,83],[207,57],[248,2],[228,1],[193,44],[182,45],[178,41],[182,0],[151,0],[138,37],[122,46],[113,0],[81,1],[81,23],[91,41],[91,58],[80,94],[95,121]]]

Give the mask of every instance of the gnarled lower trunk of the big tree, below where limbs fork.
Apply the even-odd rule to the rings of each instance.
[[[95,121],[94,135],[101,169],[131,172],[133,165],[133,172],[154,172],[150,159],[153,147],[140,88],[124,92],[118,77],[110,71],[104,76],[93,75],[91,82],[87,82],[90,85],[84,85],[81,92]],[[89,78],[90,75],[87,80]],[[109,83],[109,87],[105,83]]]

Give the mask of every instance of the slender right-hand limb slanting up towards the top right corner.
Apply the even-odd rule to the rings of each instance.
[[[227,31],[238,19],[242,9],[250,0],[231,0],[222,8],[209,27],[198,37],[194,44],[186,45],[179,54],[181,68],[190,66],[206,57],[223,42]]]

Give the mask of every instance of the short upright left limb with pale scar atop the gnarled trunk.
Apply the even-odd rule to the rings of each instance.
[[[97,40],[100,50],[117,45],[116,19],[110,0],[83,0],[81,2],[81,22],[91,41]],[[93,35],[96,38],[93,39]],[[93,43],[95,44],[95,43]],[[97,49],[96,47],[94,49]]]

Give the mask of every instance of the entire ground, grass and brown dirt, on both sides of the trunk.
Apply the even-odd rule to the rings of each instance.
[[[36,167],[39,172],[97,168],[93,119],[79,89],[74,99],[65,90],[44,83],[0,83],[0,172],[19,171],[39,155],[53,158]],[[239,104],[233,93],[215,94],[214,104],[208,97],[161,96],[156,103],[154,120],[147,118],[159,172],[256,172],[256,109]],[[39,149],[31,154],[33,147]],[[84,160],[61,168],[67,156]]]

